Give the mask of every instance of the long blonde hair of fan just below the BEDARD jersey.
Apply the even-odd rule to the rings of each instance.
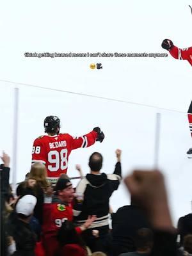
[[[47,182],[47,169],[45,164],[36,162],[31,165],[31,170],[28,179],[34,179],[43,188],[50,186]]]

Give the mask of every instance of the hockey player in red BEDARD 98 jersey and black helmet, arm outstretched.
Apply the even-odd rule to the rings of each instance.
[[[95,141],[104,140],[104,133],[99,127],[81,137],[60,133],[58,116],[47,116],[44,128],[47,135],[38,137],[33,143],[32,163],[45,164],[47,179],[51,183],[56,182],[61,173],[67,173],[68,156],[73,149],[90,147]]]

